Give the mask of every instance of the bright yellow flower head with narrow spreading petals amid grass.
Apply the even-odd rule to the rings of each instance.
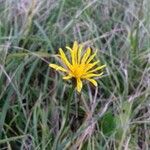
[[[99,61],[94,61],[94,57],[96,56],[96,52],[94,54],[91,53],[91,49],[87,48],[86,52],[82,54],[83,46],[79,45],[76,41],[73,44],[73,47],[66,47],[70,51],[70,59],[67,58],[64,51],[60,48],[59,49],[59,56],[64,65],[58,66],[56,64],[49,64],[55,70],[62,71],[66,74],[63,77],[65,80],[69,80],[74,78],[76,80],[76,89],[78,92],[81,92],[82,89],[82,81],[81,80],[88,80],[93,85],[97,86],[97,82],[93,79],[93,77],[100,77],[103,72],[97,73],[97,71],[102,70],[106,65],[97,66]]]

